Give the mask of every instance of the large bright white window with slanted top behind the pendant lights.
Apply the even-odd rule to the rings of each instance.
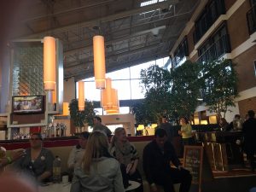
[[[165,57],[155,61],[149,61],[137,66],[127,67],[125,69],[121,69],[112,73],[107,73],[106,78],[112,79],[112,87],[118,90],[119,100],[143,99],[144,93],[139,84],[141,70],[153,65],[165,67],[168,59],[169,57]],[[85,98],[90,101],[99,102],[101,100],[101,90],[96,89],[94,78],[84,79],[84,95]],[[130,106],[121,106],[120,113],[130,113],[129,107]],[[96,108],[96,110],[98,114],[104,114],[102,108]]]

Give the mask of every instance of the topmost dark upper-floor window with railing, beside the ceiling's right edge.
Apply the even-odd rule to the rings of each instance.
[[[225,14],[225,4],[223,0],[212,0],[207,4],[204,11],[195,20],[194,43],[196,44],[207,32],[219,15]]]

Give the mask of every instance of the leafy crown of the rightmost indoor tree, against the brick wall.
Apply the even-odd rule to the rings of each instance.
[[[230,60],[211,61],[204,64],[204,95],[209,110],[222,117],[228,107],[235,107],[234,99],[238,96],[237,73],[235,64]]]

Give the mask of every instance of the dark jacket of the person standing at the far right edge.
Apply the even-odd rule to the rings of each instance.
[[[256,119],[247,119],[242,125],[244,134],[244,150],[250,153],[256,150]]]

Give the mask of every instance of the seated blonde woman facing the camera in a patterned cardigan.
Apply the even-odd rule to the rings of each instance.
[[[143,180],[137,170],[139,159],[137,149],[128,141],[123,127],[115,129],[109,151],[121,164],[125,188],[128,187],[128,180],[133,180],[141,183],[136,191],[143,191]]]

